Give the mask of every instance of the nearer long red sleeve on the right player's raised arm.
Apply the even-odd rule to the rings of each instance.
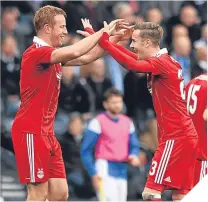
[[[137,61],[113,46],[108,39],[109,35],[107,33],[103,33],[103,36],[100,39],[100,45],[106,49],[124,68],[136,72],[159,74],[159,69],[152,65],[150,60]]]

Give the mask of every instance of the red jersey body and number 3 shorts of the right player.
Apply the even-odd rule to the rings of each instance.
[[[152,66],[149,82],[157,116],[159,146],[146,187],[161,192],[176,189],[178,193],[186,194],[193,187],[198,137],[186,109],[182,69],[166,49],[147,61]]]

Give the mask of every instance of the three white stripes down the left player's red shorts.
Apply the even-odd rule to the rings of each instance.
[[[35,182],[35,161],[33,134],[27,134],[27,152],[30,166],[30,182]]]

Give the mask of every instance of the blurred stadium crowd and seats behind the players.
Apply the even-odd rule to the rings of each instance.
[[[43,5],[61,7],[68,15],[65,45],[81,39],[80,18],[89,18],[95,30],[103,21],[123,18],[130,23],[154,21],[164,28],[161,41],[179,61],[187,83],[207,71],[207,1],[13,1],[1,2],[1,194],[5,200],[24,200],[18,182],[11,142],[11,124],[20,104],[21,55],[32,43],[33,17]],[[122,42],[128,47],[129,41]],[[82,67],[63,68],[55,132],[63,146],[70,200],[96,200],[79,150],[88,121],[103,111],[102,95],[110,87],[124,94],[124,113],[136,125],[141,145],[140,168],[129,166],[128,199],[141,199],[151,158],[157,147],[157,124],[146,76],[125,71],[110,55]],[[170,200],[170,193],[164,194]]]

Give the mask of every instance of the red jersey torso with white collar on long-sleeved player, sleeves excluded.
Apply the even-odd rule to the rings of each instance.
[[[151,92],[158,123],[159,142],[167,139],[197,138],[186,109],[185,86],[180,64],[166,49],[146,60],[151,66]]]

